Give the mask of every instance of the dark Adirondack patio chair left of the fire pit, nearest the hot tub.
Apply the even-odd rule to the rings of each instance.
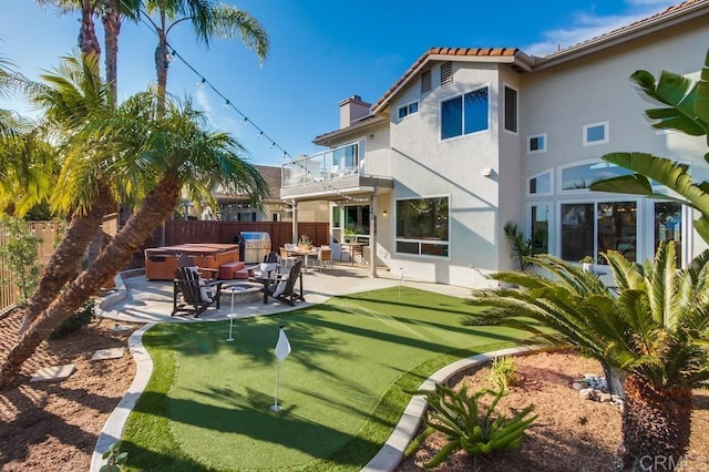
[[[224,280],[203,279],[197,267],[177,267],[173,281],[173,312],[169,316],[186,311],[199,318],[215,302],[219,309],[223,284]]]

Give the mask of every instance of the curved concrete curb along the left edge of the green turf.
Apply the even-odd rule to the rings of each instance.
[[[109,450],[111,444],[121,440],[129,414],[131,414],[131,411],[135,408],[137,399],[141,398],[145,391],[145,387],[147,387],[147,382],[153,374],[153,359],[143,346],[143,335],[155,325],[156,324],[151,322],[142,326],[129,338],[129,349],[136,365],[135,378],[131,387],[129,387],[127,392],[123,396],[119,404],[116,404],[96,439],[96,445],[94,445],[93,454],[91,455],[91,466],[89,468],[92,472],[99,472],[101,465],[103,465],[103,453]]]

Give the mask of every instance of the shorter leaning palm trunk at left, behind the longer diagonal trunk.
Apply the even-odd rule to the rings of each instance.
[[[105,185],[99,184],[99,195],[85,216],[74,216],[66,228],[66,234],[52,253],[44,274],[30,298],[20,334],[50,306],[64,284],[76,273],[86,246],[96,234],[103,216],[114,206],[113,198]]]

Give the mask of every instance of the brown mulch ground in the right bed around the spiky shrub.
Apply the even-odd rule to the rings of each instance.
[[[603,376],[597,361],[573,353],[552,352],[516,357],[521,382],[512,387],[497,410],[506,415],[530,403],[538,415],[527,429],[521,449],[501,452],[482,461],[484,472],[567,472],[614,471],[618,445],[621,442],[620,410],[610,403],[582,400],[572,382],[586,373]],[[484,367],[461,372],[449,381],[469,392],[492,388],[490,369]],[[691,444],[684,471],[709,470],[709,391],[695,391]],[[429,461],[444,444],[443,435],[432,434],[410,458],[400,464],[399,472],[424,470]],[[472,459],[459,451],[442,463],[438,471],[471,471]]]

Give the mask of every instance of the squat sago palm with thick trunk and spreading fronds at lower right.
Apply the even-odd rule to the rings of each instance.
[[[571,348],[627,372],[624,465],[664,458],[674,469],[689,445],[691,389],[709,383],[709,252],[686,269],[677,268],[674,242],[660,244],[654,265],[616,252],[604,256],[617,298],[592,274],[553,256],[533,256],[555,278],[492,276],[523,289],[475,293],[471,304],[492,309],[469,322],[524,329],[531,342]]]

